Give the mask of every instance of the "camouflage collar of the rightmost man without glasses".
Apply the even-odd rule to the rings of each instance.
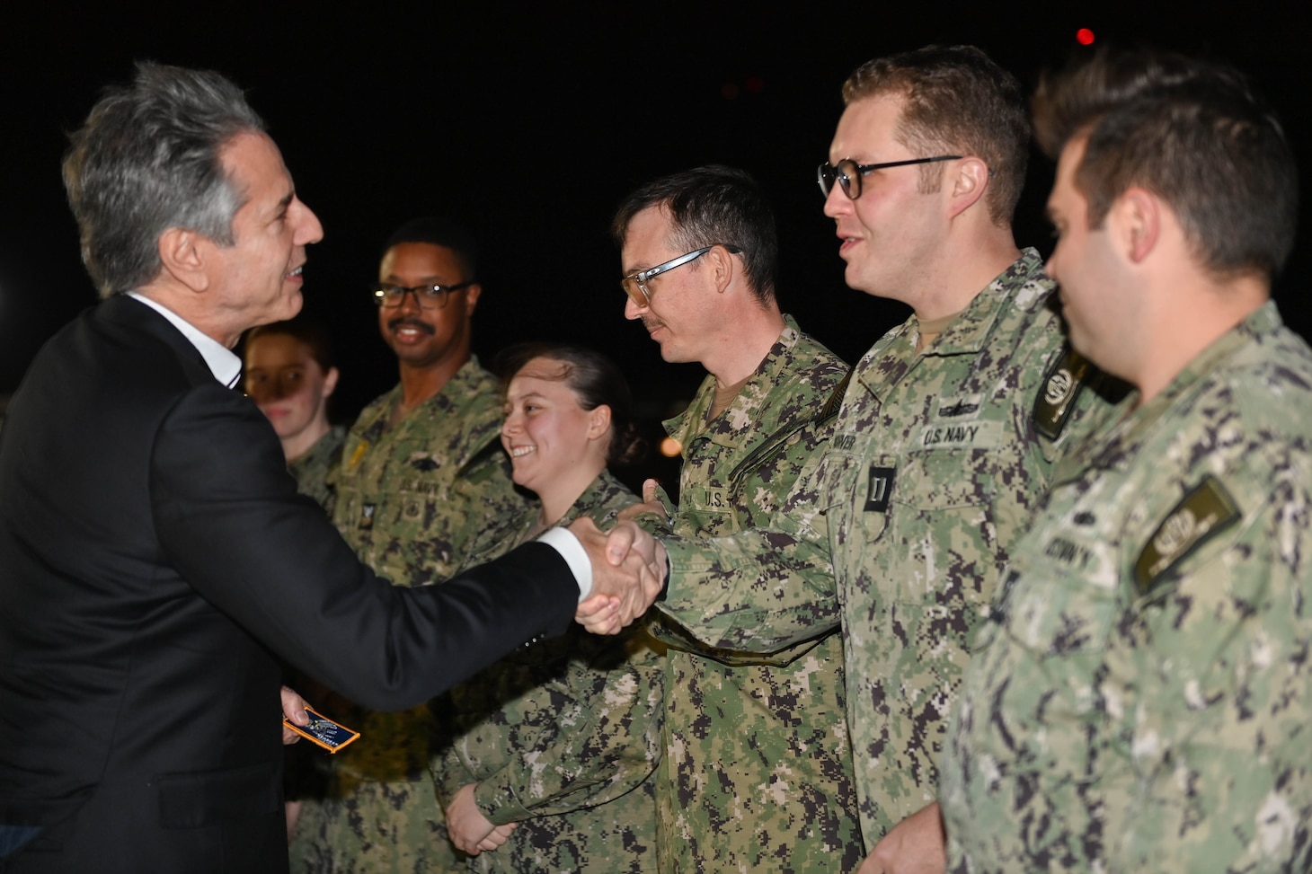
[[[1283,327],[1275,303],[1267,301],[1198,353],[1156,398],[1138,409],[1135,403],[1139,400],[1139,391],[1132,390],[1109,412],[1107,421],[1114,424],[1096,428],[1090,436],[1090,441],[1096,445],[1093,453],[1075,453],[1064,459],[1056,471],[1055,482],[1075,479],[1080,468],[1086,465],[1106,470],[1128,467],[1134,461],[1134,453],[1127,447],[1139,444],[1182,399],[1206,388],[1207,378],[1229,358],[1250,344],[1262,343]]]

